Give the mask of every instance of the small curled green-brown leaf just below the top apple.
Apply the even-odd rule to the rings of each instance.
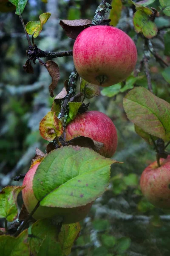
[[[85,95],[87,99],[91,99],[100,95],[99,86],[90,84],[84,79],[80,79],[80,92]]]

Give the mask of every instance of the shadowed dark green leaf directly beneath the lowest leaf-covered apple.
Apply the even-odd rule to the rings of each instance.
[[[32,225],[31,236],[28,240],[32,255],[37,256],[45,238],[54,239],[56,243],[58,242],[57,227],[52,223],[51,219],[38,220]]]

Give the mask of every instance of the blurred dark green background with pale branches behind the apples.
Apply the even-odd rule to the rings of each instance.
[[[74,40],[66,37],[59,26],[59,20],[92,20],[99,3],[98,0],[48,0],[48,3],[28,0],[23,20],[25,23],[39,20],[40,14],[50,12],[51,17],[35,43],[42,50],[69,50],[73,48]],[[136,41],[132,22],[133,8],[125,0],[122,3],[123,6],[117,1],[117,27]],[[151,6],[159,10],[159,5],[156,0]],[[2,5],[1,8],[3,11]],[[168,26],[170,17],[161,14],[155,22],[158,27]],[[164,55],[164,37],[167,33],[168,29],[162,30],[151,41],[159,55],[170,63],[170,57]],[[136,47],[138,69],[143,55],[142,38],[138,38]],[[22,181],[14,182],[12,178],[26,173],[35,148],[45,151],[48,143],[40,137],[39,122],[50,111],[53,102],[48,91],[51,77],[38,62],[33,66],[34,74],[25,73],[23,64],[27,59],[27,48],[19,17],[14,12],[0,12],[0,189],[7,185],[21,185]],[[56,95],[70,75],[73,60],[70,56],[54,61],[60,69]],[[164,79],[164,67],[153,56],[150,59],[150,73],[154,93],[170,102],[170,75],[167,74],[168,79]],[[141,70],[139,76],[131,88],[147,87],[144,70]],[[135,133],[134,125],[127,119],[122,100],[128,90],[123,93],[118,91],[103,91],[102,94],[108,96],[85,100],[85,103],[90,102],[89,110],[101,111],[113,120],[119,139],[113,158],[124,163],[112,166],[110,186],[81,222],[81,234],[71,256],[169,256],[170,213],[148,203],[139,187],[142,171],[156,160],[156,154],[153,147]],[[21,205],[20,195],[19,207]],[[2,226],[3,223],[0,224]]]

